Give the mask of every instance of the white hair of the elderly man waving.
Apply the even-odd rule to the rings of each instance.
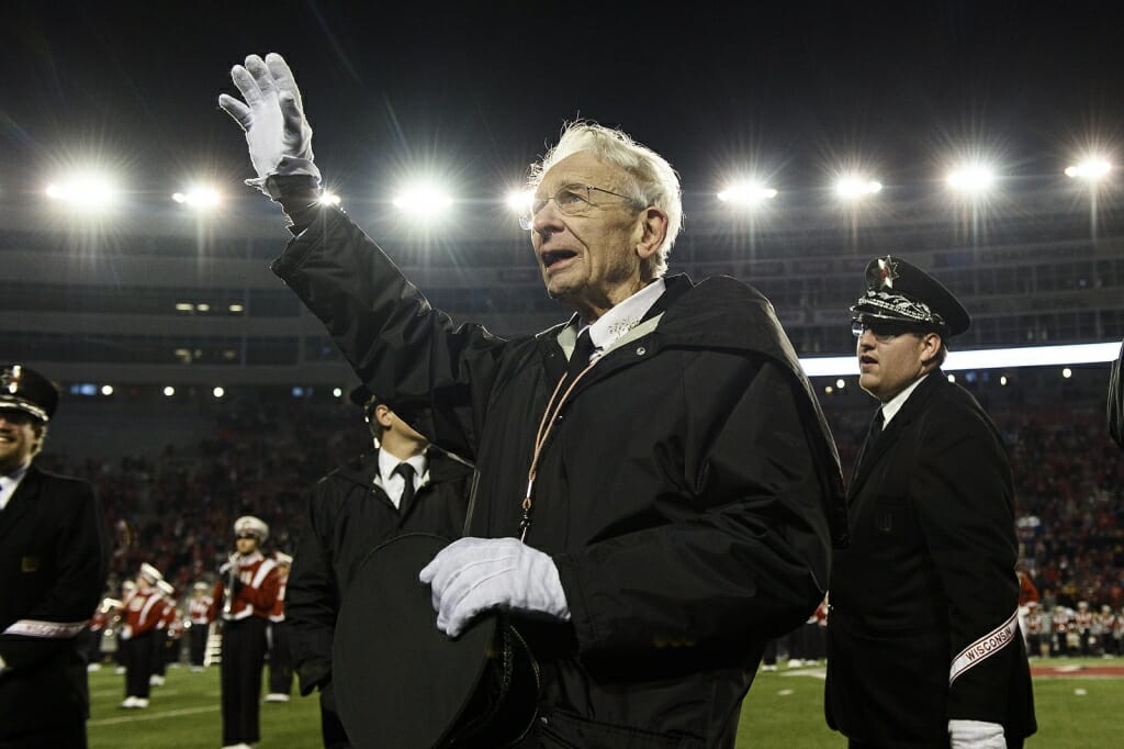
[[[625,170],[628,174],[625,191],[629,197],[642,206],[655,206],[668,215],[668,235],[643,268],[647,280],[660,278],[668,272],[668,255],[683,224],[683,202],[676,170],[667,159],[622,130],[578,120],[566,123],[558,144],[546,152],[541,162],[531,166],[531,189],[538,188],[551,166],[582,151]]]

